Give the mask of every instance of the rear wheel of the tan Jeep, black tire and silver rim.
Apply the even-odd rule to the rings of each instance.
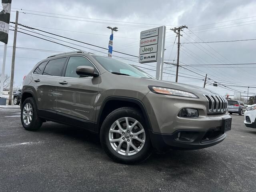
[[[20,119],[24,129],[29,131],[38,130],[42,126],[42,120],[37,116],[36,102],[32,97],[22,102]]]

